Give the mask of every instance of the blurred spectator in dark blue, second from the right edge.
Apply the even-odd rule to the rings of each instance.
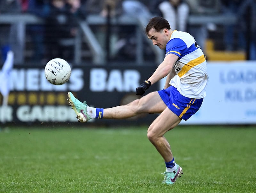
[[[233,1],[226,1],[222,0],[222,12],[224,15],[234,15],[237,16],[237,12],[243,0],[233,0]],[[238,33],[237,24],[226,24],[224,26],[224,44],[225,50],[233,51],[233,50],[245,50],[245,39],[244,34]],[[238,39],[238,46],[235,46],[235,35],[237,35]],[[236,47],[236,49],[235,49]]]

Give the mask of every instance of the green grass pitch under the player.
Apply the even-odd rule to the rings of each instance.
[[[184,174],[168,186],[147,127],[81,126],[0,132],[0,192],[256,192],[256,127],[169,131]]]

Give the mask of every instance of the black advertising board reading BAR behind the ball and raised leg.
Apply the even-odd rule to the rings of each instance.
[[[8,106],[1,106],[2,123],[77,122],[68,106],[67,92],[71,91],[89,106],[108,108],[127,104],[139,98],[136,88],[146,80],[156,66],[72,66],[66,84],[52,85],[44,77],[44,67],[15,66],[9,80]],[[152,85],[147,93],[156,91]],[[3,96],[0,96],[1,102]],[[146,123],[156,115],[140,115],[126,120],[92,120],[97,124]]]

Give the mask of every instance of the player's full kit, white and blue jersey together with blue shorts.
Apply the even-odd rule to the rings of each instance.
[[[173,113],[188,120],[198,111],[206,96],[206,59],[193,36],[176,30],[166,44],[165,56],[168,54],[179,57],[173,66],[177,74],[171,79],[171,86],[158,93]]]

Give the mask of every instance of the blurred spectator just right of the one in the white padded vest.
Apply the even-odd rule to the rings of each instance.
[[[221,11],[220,0],[185,0],[189,5],[190,14],[204,17],[205,15],[218,15]],[[215,30],[214,23],[189,26],[188,32],[195,37],[197,44],[205,51],[205,41],[208,30]]]

